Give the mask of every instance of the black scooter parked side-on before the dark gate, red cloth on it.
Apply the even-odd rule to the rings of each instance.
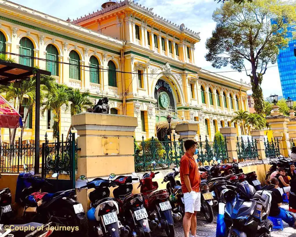
[[[75,189],[60,191],[57,193],[42,193],[39,190],[44,185],[52,186],[49,182],[28,172],[28,166],[24,164],[27,176],[25,187],[20,192],[20,203],[25,207],[23,219],[35,222],[54,222],[60,226],[77,226],[78,231],[71,235],[80,236],[87,232],[87,220],[81,203],[76,201]],[[57,173],[52,177],[56,178]],[[19,187],[18,187],[19,188]]]

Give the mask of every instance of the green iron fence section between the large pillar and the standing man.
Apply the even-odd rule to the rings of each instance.
[[[183,141],[176,140],[175,134],[172,141],[168,136],[165,136],[164,141],[159,141],[155,137],[144,140],[142,137],[142,141],[134,141],[134,150],[136,172],[169,168],[172,165],[178,167],[184,154]]]

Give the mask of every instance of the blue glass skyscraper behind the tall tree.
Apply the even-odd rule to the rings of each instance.
[[[286,37],[289,38],[289,47],[280,49],[277,63],[283,97],[286,99],[290,97],[292,100],[296,100],[296,57],[294,56],[296,40],[292,37],[293,31],[296,31],[295,25],[287,28]]]

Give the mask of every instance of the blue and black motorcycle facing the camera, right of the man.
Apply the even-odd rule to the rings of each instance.
[[[268,237],[273,224],[267,219],[271,194],[256,192],[250,184],[237,182],[234,189],[224,189],[221,201],[226,203],[224,221],[228,237]]]

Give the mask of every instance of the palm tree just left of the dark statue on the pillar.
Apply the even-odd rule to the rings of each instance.
[[[79,89],[69,88],[69,101],[71,102],[71,115],[75,115],[86,111],[89,107],[93,106],[92,101],[89,99],[90,92],[80,92]],[[71,131],[71,126],[68,130],[67,137]]]

